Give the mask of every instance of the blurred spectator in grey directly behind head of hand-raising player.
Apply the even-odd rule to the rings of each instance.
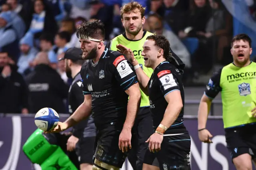
[[[188,49],[171,30],[166,30],[163,27],[161,17],[158,14],[151,14],[148,16],[147,20],[151,32],[165,36],[170,42],[172,51],[176,53],[178,57],[180,57],[180,59],[186,65],[186,68],[190,68],[190,53],[188,52]]]

